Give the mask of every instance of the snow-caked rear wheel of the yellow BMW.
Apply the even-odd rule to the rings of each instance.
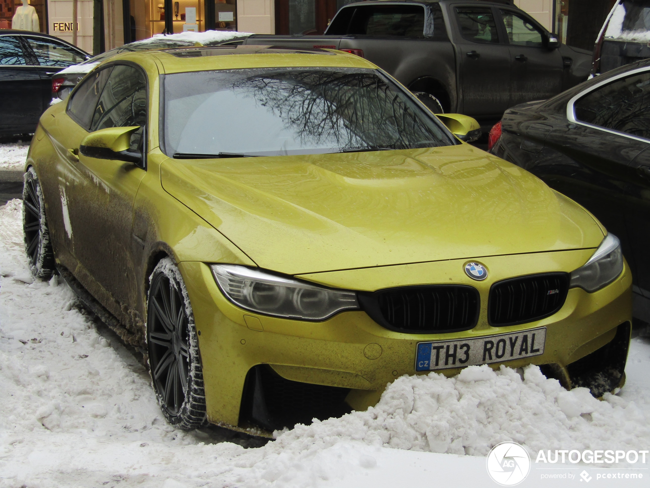
[[[49,280],[55,272],[54,253],[49,240],[43,191],[32,167],[25,173],[23,185],[23,236],[32,276]]]

